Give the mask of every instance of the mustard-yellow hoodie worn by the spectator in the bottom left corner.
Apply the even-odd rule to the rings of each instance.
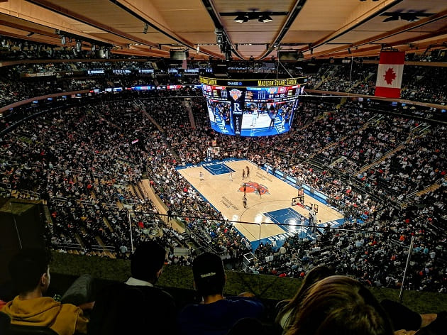
[[[21,300],[15,297],[1,309],[9,315],[11,324],[45,326],[59,335],[87,334],[88,320],[74,304],[61,304],[50,297]]]

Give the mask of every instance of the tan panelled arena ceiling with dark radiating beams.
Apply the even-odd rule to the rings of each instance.
[[[278,50],[305,58],[424,53],[446,47],[447,1],[0,0],[0,35],[52,45],[65,35],[66,47],[81,40],[84,49],[104,43],[128,55],[189,50],[196,59],[225,58],[225,50],[246,60]]]

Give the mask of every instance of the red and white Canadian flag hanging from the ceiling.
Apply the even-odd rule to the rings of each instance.
[[[400,98],[402,75],[404,74],[405,53],[399,51],[382,51],[380,53],[375,96]]]

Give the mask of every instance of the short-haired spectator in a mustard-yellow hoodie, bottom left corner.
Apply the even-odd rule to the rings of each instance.
[[[18,296],[1,309],[11,324],[44,326],[60,335],[86,334],[88,319],[74,304],[61,304],[44,297],[50,285],[50,253],[26,248],[9,263],[9,273]]]

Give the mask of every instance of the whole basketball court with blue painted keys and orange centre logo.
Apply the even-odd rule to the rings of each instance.
[[[248,176],[247,167],[250,170]],[[319,232],[309,226],[310,209],[318,211],[315,212],[319,231],[323,231],[328,224],[336,227],[344,222],[343,214],[326,204],[324,194],[316,192],[318,196],[303,190],[292,182],[292,177],[281,171],[275,171],[274,176],[271,168],[267,172],[265,167],[260,168],[248,160],[214,160],[200,165],[180,166],[177,172],[226,219],[246,222],[235,223],[234,227],[250,241],[253,248],[260,242],[273,241],[281,246],[285,238],[295,234],[301,238],[315,239]],[[243,204],[244,183],[246,207]],[[298,194],[304,197],[304,204],[297,202]],[[298,205],[292,206],[292,199]],[[297,226],[302,224],[306,227]]]

